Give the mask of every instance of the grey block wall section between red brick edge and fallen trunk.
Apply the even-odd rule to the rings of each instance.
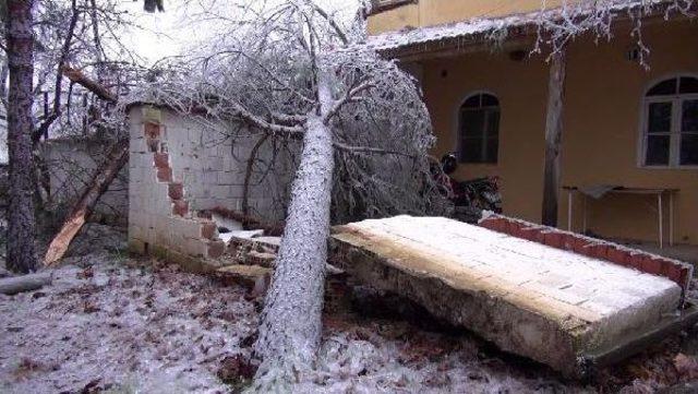
[[[193,211],[224,207],[239,211],[250,152],[260,134],[237,124],[204,126],[202,119],[161,110],[164,143],[169,153],[172,176],[184,184],[184,196]],[[234,138],[229,135],[236,134]],[[249,203],[251,213],[267,220],[285,216],[292,164],[287,152],[275,157],[275,171],[266,171],[273,151],[266,143],[258,150],[263,162],[253,168]]]

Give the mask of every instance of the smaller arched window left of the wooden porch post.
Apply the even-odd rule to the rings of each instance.
[[[500,100],[480,93],[470,96],[458,114],[460,163],[497,163],[500,151]]]

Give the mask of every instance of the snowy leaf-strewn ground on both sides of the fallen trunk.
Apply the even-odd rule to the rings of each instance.
[[[246,289],[130,258],[124,235],[104,226],[81,236],[53,277],[41,290],[0,296],[0,393],[244,386],[236,362],[249,356],[260,310]],[[581,384],[466,332],[357,311],[326,314],[324,323],[317,366],[294,392],[696,392],[698,333],[667,338]]]

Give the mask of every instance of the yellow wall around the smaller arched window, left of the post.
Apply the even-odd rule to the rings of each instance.
[[[455,176],[500,176],[504,211],[540,222],[547,67],[540,59],[517,62],[502,53],[472,53],[425,62],[422,77],[437,136],[436,157],[457,150],[462,102],[477,92],[497,96],[502,110],[498,163],[461,164]]]

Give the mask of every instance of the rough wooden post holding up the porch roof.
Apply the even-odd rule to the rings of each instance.
[[[559,153],[563,136],[563,103],[565,96],[565,52],[553,55],[550,65],[547,115],[545,119],[545,169],[543,175],[543,214],[545,226],[557,226],[559,200]]]

